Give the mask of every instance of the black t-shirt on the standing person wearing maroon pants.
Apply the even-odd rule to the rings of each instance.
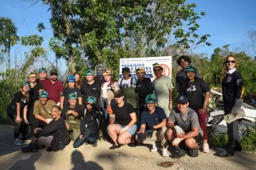
[[[194,82],[186,81],[186,91],[184,94],[189,99],[189,107],[196,111],[201,109],[204,103],[204,94],[210,91],[207,83],[201,78],[195,77]]]

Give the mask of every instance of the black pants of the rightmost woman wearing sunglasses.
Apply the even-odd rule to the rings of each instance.
[[[235,104],[235,100],[224,101],[224,114],[225,115],[230,114],[234,104]],[[238,125],[237,120],[234,122],[227,123],[228,135],[229,135],[229,143],[227,145],[228,148],[235,148],[236,143],[241,143],[237,125]]]

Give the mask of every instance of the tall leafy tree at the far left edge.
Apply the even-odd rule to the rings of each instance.
[[[0,45],[3,45],[2,52],[8,54],[8,69],[10,69],[10,49],[18,41],[18,28],[12,20],[5,17],[0,17]]]

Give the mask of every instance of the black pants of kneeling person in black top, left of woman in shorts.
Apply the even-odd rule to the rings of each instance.
[[[73,147],[78,148],[85,142],[89,144],[94,144],[96,143],[96,140],[98,139],[98,130],[97,131],[91,131],[88,128],[84,130],[83,138],[80,139],[79,137],[73,142]]]

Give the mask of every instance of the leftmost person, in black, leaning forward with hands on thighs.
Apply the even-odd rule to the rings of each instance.
[[[23,82],[20,87],[20,91],[14,94],[14,98],[8,105],[6,112],[9,118],[15,123],[15,139],[14,144],[16,146],[22,145],[22,140],[19,139],[20,133],[23,138],[26,139],[26,116],[23,115],[25,106],[29,102],[28,91],[30,89],[30,83]]]

